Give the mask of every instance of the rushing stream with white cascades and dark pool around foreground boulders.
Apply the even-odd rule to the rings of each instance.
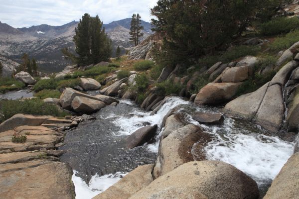
[[[196,111],[221,112],[221,108],[195,106],[181,98],[171,97],[155,115],[149,115],[132,101],[121,100],[116,107],[106,106],[94,113],[97,119],[81,122],[67,132],[61,157],[74,171],[76,199],[91,199],[105,191],[139,165],[156,160],[161,122],[177,105]],[[274,134],[244,120],[225,117],[223,125],[202,125],[188,116],[188,122],[200,125],[214,140],[205,147],[208,160],[229,163],[252,177],[261,196],[293,154],[294,143],[286,136]],[[126,138],[142,126],[157,124],[155,141],[127,149]],[[283,134],[284,135],[284,134]],[[196,156],[196,154],[193,154]]]

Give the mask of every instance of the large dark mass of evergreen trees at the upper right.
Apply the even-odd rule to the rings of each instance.
[[[225,49],[253,20],[265,21],[282,0],[158,0],[151,9],[153,31],[167,39],[160,60],[184,63]],[[169,63],[169,60],[171,63]]]

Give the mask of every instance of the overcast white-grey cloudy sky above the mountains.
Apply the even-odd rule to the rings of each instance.
[[[78,21],[87,12],[99,15],[104,23],[140,13],[150,20],[149,9],[157,0],[0,0],[0,21],[12,27],[48,24],[63,25]]]

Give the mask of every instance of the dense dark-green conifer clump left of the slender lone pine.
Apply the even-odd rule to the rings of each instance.
[[[85,13],[75,32],[73,41],[78,56],[73,55],[68,49],[62,49],[66,58],[75,61],[80,66],[109,61],[112,53],[111,40],[105,33],[103,22],[98,15],[92,17]]]

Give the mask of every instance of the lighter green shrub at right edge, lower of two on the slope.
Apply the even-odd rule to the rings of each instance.
[[[290,48],[294,43],[299,41],[299,30],[289,32],[285,36],[277,37],[269,47],[273,51],[280,51]]]

